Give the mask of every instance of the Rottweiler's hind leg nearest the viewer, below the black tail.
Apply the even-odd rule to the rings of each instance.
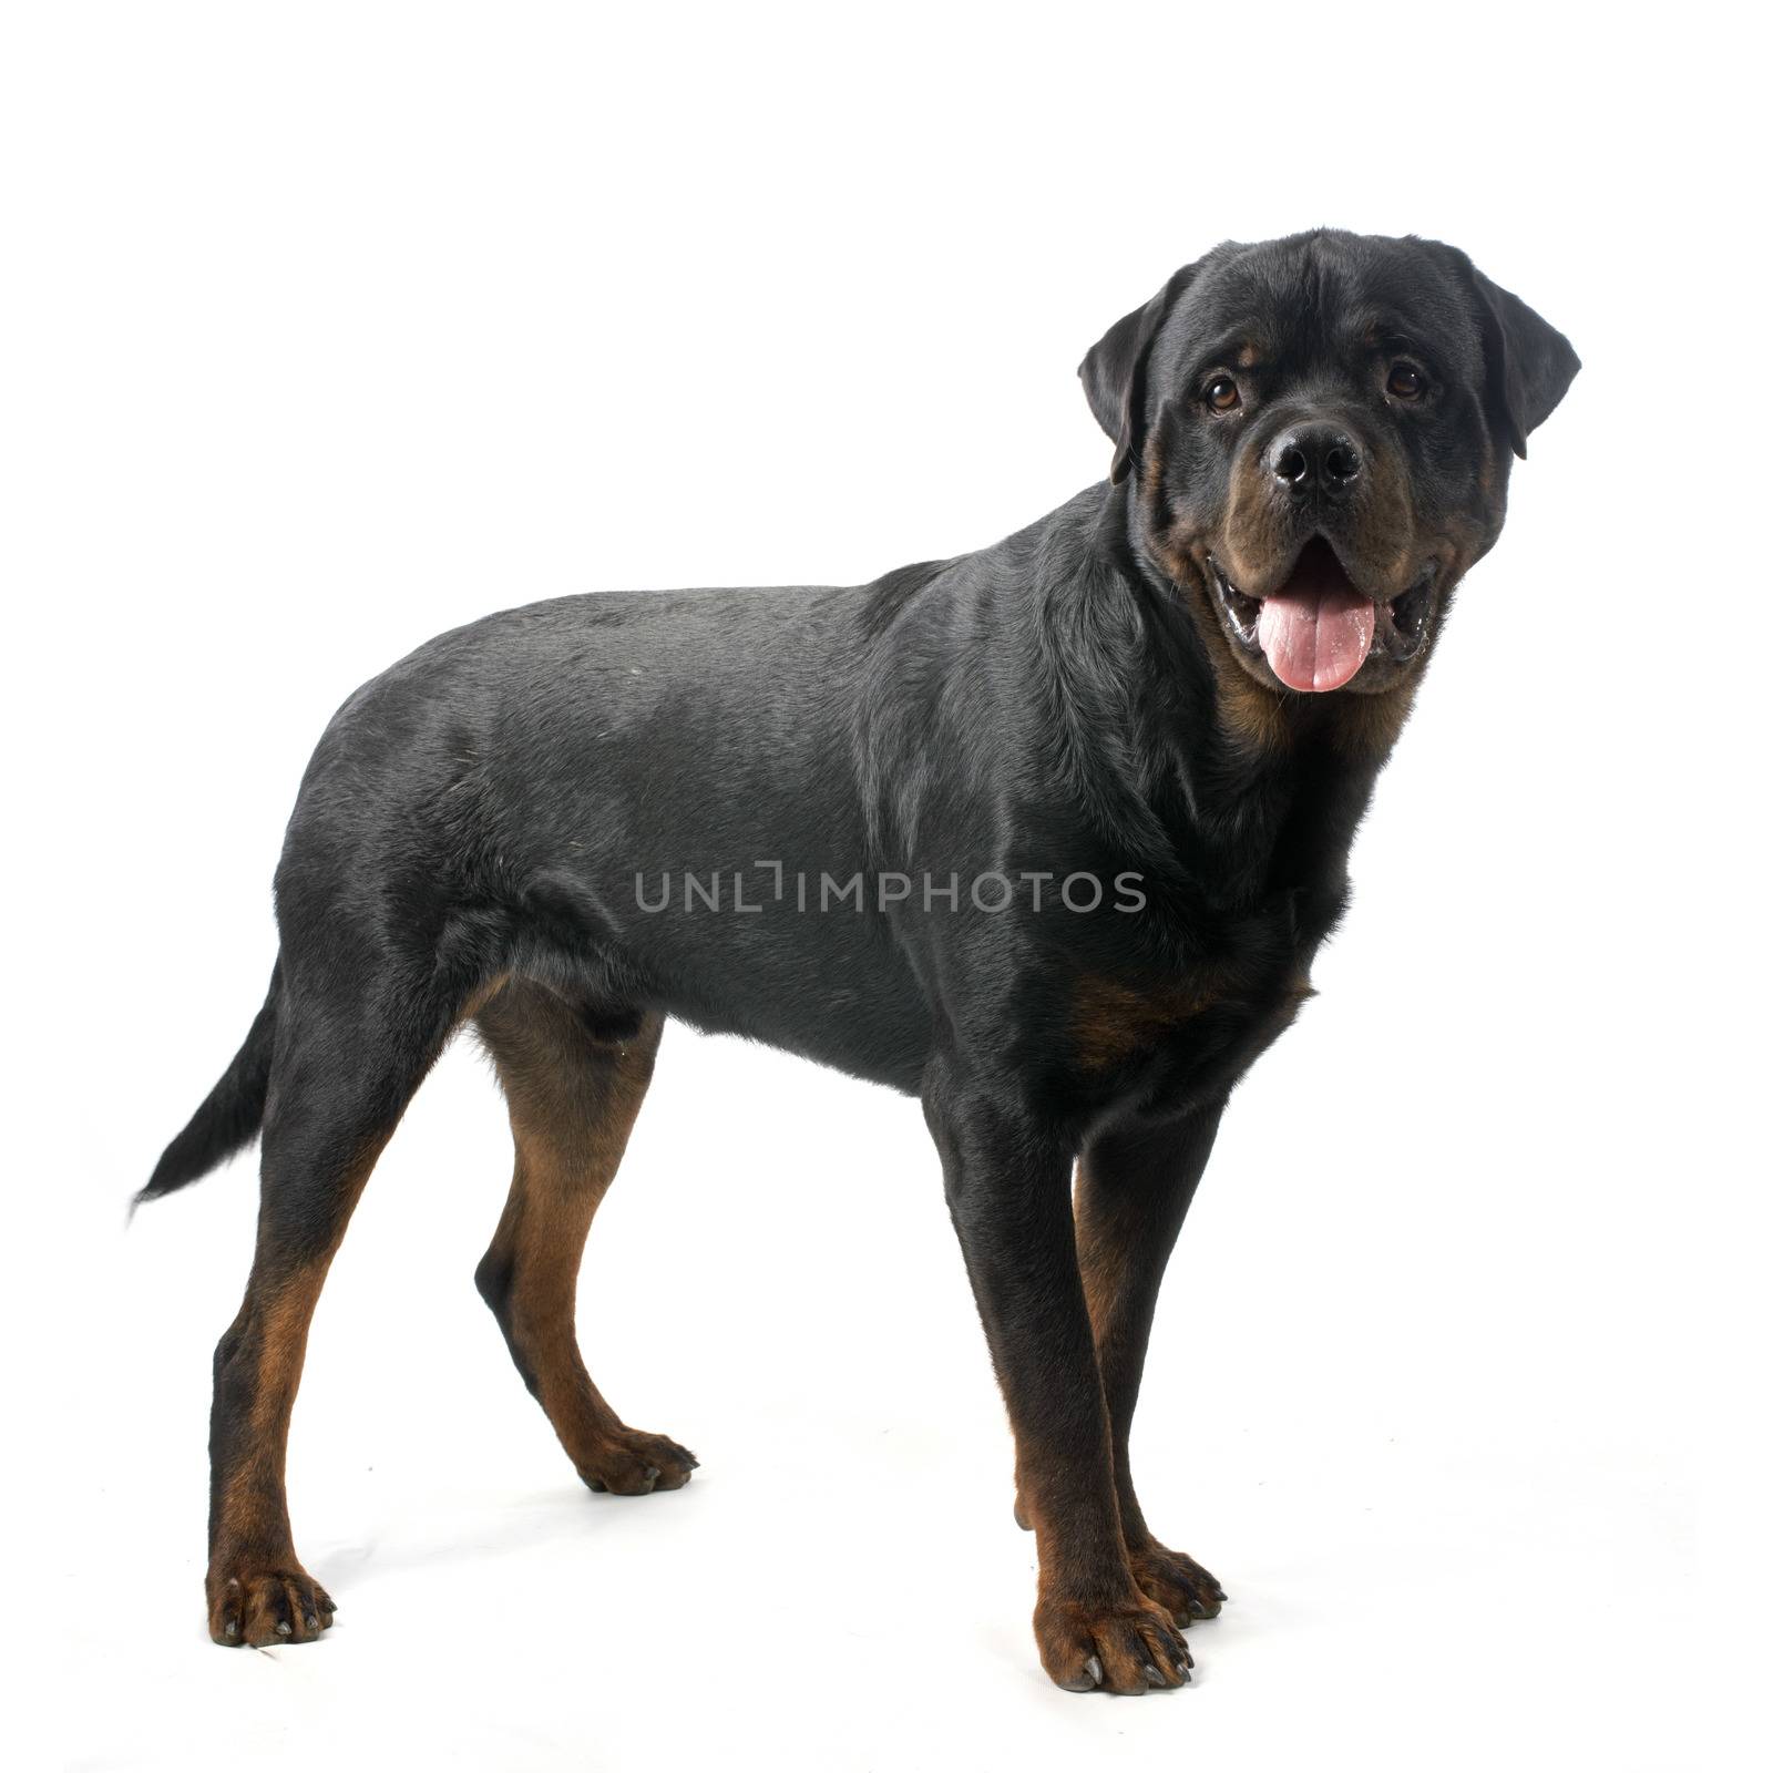
[[[216,1644],[301,1642],[332,1624],[332,1599],[291,1543],[289,1413],[326,1269],[454,1012],[417,965],[388,963],[349,982],[285,970],[257,1248],[215,1358],[206,1592]]]

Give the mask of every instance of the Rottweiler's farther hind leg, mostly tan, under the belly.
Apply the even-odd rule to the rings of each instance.
[[[592,1019],[514,982],[475,1018],[511,1108],[516,1172],[475,1285],[523,1383],[592,1489],[679,1489],[695,1456],[628,1427],[590,1383],[574,1332],[580,1257],[652,1078],[663,1019]]]

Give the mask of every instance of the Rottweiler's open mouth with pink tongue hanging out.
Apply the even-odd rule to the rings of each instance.
[[[1386,603],[1356,589],[1323,535],[1300,550],[1293,571],[1266,598],[1239,590],[1218,560],[1207,557],[1207,566],[1232,640],[1261,652],[1289,690],[1340,690],[1374,651],[1404,663],[1427,635],[1433,566]]]

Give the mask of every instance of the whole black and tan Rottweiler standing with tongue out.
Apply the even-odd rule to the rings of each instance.
[[[1160,1278],[1576,367],[1450,246],[1223,245],[1083,360],[1108,480],[1007,541],[855,589],[562,598],[358,690],[289,823],[264,1009],[144,1190],[262,1138],[215,1360],[215,1640],[332,1621],[284,1500],[309,1319],[463,1025],[516,1136],[477,1280],[518,1371],[592,1489],[688,1480],[573,1328],[677,1016],[922,1097],[1039,1541],[1041,1661],[1066,1688],[1186,1681],[1179,1626],[1223,1594],[1128,1470]]]

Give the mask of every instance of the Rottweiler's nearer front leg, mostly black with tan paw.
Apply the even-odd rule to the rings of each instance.
[[[1016,1434],[1041,1555],[1034,1633],[1064,1688],[1188,1679],[1175,1621],[1133,1578],[1071,1220],[1071,1154],[1009,1092],[933,1074],[924,1110]]]

